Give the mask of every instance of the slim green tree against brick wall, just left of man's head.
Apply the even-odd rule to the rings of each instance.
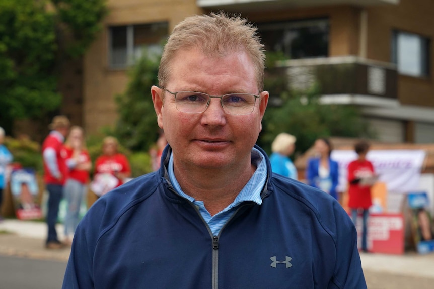
[[[133,151],[148,151],[159,134],[151,86],[158,83],[160,58],[148,57],[146,52],[143,55],[129,71],[126,91],[116,97],[119,119],[115,134]]]

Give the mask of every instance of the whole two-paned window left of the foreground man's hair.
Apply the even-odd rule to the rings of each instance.
[[[167,38],[166,22],[112,26],[109,28],[109,65],[125,68],[142,56],[144,49],[149,55],[161,54],[162,41]]]

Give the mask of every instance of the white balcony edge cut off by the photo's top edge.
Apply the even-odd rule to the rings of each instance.
[[[203,9],[223,9],[226,11],[275,10],[284,8],[303,8],[328,5],[397,5],[400,0],[196,0]]]

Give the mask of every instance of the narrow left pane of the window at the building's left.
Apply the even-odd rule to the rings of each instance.
[[[127,33],[126,26],[110,28],[110,66],[125,67],[127,65]]]

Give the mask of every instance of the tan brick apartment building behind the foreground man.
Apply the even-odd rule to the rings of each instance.
[[[141,49],[186,16],[224,10],[282,51],[288,84],[321,85],[324,103],[355,104],[380,140],[434,142],[432,0],[108,0],[103,30],[64,75],[62,112],[88,133],[116,120],[114,97]],[[266,89],[269,89],[266,87]],[[151,95],[143,95],[151,97]]]

